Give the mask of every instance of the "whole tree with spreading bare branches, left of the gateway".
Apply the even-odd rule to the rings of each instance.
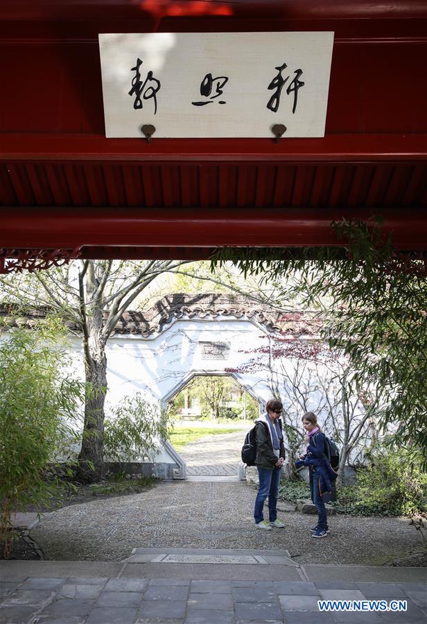
[[[79,260],[26,276],[1,278],[2,301],[45,307],[82,337],[85,366],[85,419],[78,480],[93,482],[103,473],[103,427],[107,392],[105,346],[123,312],[144,290],[184,261],[117,262]]]

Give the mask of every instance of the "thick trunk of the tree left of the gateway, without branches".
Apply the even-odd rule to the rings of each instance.
[[[78,480],[93,483],[103,477],[104,469],[104,403],[107,390],[107,358],[105,346],[98,337],[91,337],[85,351],[85,428],[82,438]]]

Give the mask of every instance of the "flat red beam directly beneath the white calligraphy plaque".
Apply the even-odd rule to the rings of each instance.
[[[126,162],[402,162],[427,160],[427,135],[327,135],[318,139],[106,139],[1,135],[1,160]]]

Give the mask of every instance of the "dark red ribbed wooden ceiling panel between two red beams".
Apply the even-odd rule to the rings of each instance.
[[[141,208],[416,206],[427,165],[134,165],[9,163],[1,205]]]

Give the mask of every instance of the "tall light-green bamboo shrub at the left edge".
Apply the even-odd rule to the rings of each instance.
[[[66,334],[58,319],[9,329],[0,340],[0,541],[5,558],[14,514],[58,498],[64,470],[55,470],[55,459],[65,444],[79,441],[74,421],[84,396],[82,384],[64,371]],[[71,468],[65,469],[67,475]]]

